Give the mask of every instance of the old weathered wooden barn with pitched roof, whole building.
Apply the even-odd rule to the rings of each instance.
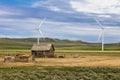
[[[34,57],[54,57],[53,44],[33,44],[31,53]]]

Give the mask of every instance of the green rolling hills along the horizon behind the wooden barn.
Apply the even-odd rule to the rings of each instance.
[[[0,50],[29,50],[37,42],[36,38],[0,38]],[[60,40],[45,38],[40,43],[52,43],[57,50],[100,50],[100,43],[88,43],[80,40]],[[120,50],[120,43],[105,44],[106,50]]]

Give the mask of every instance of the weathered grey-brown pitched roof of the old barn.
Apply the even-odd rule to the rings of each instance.
[[[53,44],[33,44],[31,50],[46,51],[46,50],[50,50],[51,48],[53,48],[53,50],[54,50]]]

